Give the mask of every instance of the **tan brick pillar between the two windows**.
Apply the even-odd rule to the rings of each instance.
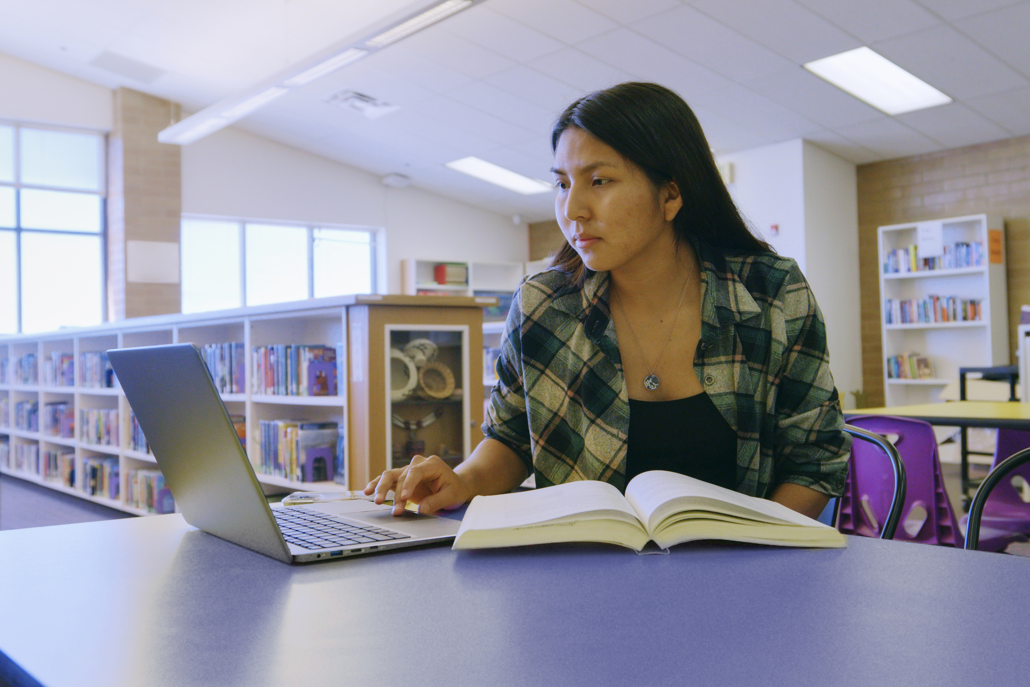
[[[108,137],[108,319],[179,312],[179,284],[126,279],[126,242],[179,242],[182,177],[178,145],[158,142],[158,132],[178,118],[178,106],[138,91],[114,92]]]

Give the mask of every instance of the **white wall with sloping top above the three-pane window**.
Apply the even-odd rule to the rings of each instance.
[[[401,260],[524,262],[528,227],[237,129],[182,149],[182,211],[383,227],[388,293]]]

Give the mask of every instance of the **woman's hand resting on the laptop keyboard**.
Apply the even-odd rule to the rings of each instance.
[[[383,472],[369,482],[365,493],[375,493],[375,502],[382,504],[390,489],[393,515],[401,515],[409,501],[418,504],[419,513],[433,515],[442,508],[459,508],[476,495],[468,482],[436,455],[416,455],[408,466]]]

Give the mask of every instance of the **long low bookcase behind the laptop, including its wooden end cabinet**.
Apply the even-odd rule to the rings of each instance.
[[[94,328],[63,330],[36,335],[0,337],[0,358],[34,353],[38,360],[38,380],[35,384],[14,384],[0,380],[0,401],[6,409],[0,417],[0,437],[6,437],[13,453],[19,443],[36,444],[43,450],[71,448],[75,452],[75,487],[60,482],[43,480],[39,475],[15,471],[0,465],[0,473],[36,482],[42,486],[103,504],[110,508],[147,515],[144,510],[127,503],[128,474],[130,470],[157,469],[152,455],[133,451],[129,447],[131,434],[131,408],[115,383],[113,388],[82,386],[81,353],[105,351],[110,348],[150,346],[170,343],[197,345],[242,342],[245,351],[245,390],[241,393],[222,393],[227,409],[233,415],[246,419],[246,449],[255,467],[258,480],[268,493],[284,490],[339,490],[364,487],[369,475],[382,472],[389,453],[390,412],[388,400],[389,379],[384,375],[384,362],[389,349],[385,346],[385,325],[411,325],[413,329],[433,330],[435,327],[460,328],[465,347],[461,367],[455,374],[462,382],[465,399],[460,405],[461,422],[468,432],[459,441],[448,439],[447,445],[460,445],[461,455],[482,438],[481,419],[472,412],[482,406],[482,386],[466,384],[465,380],[478,378],[478,368],[472,362],[482,350],[482,308],[493,305],[495,299],[402,297],[402,296],[344,296],[311,299],[296,303],[254,306],[191,315],[161,315],[122,320]],[[378,328],[369,330],[373,324]],[[371,336],[369,333],[371,332]],[[338,360],[337,392],[335,397],[270,396],[252,392],[252,355],[254,346],[269,344],[344,344],[344,359]],[[373,346],[370,348],[370,346]],[[44,386],[42,365],[50,352],[71,353],[74,356],[74,386]],[[350,383],[351,379],[356,382]],[[375,380],[371,383],[370,380]],[[36,401],[39,404],[39,432],[14,427],[15,404]],[[46,435],[43,430],[43,411],[47,403],[66,401],[73,404],[76,422],[75,438],[64,439]],[[478,406],[476,405],[478,404]],[[453,405],[453,404],[451,404]],[[118,410],[118,445],[97,446],[78,439],[79,411],[90,408]],[[453,411],[451,413],[453,415]],[[354,418],[359,418],[354,423]],[[263,419],[303,418],[313,421],[335,421],[347,437],[346,486],[337,482],[297,482],[258,472],[261,465],[260,421]],[[453,424],[453,422],[452,422]],[[439,432],[441,427],[437,427]],[[352,427],[357,427],[353,432]],[[459,427],[460,428],[460,427]],[[431,447],[435,448],[435,447]],[[458,451],[455,450],[457,455]],[[89,495],[81,489],[82,459],[91,456],[115,457],[119,468],[119,497]],[[13,460],[11,460],[13,463]]]

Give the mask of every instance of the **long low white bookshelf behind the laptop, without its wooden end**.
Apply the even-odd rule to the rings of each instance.
[[[335,421],[347,432],[347,375],[346,362],[337,375],[336,397],[283,397],[250,393],[251,365],[250,351],[253,346],[270,344],[346,344],[346,308],[348,305],[382,297],[339,297],[313,299],[297,303],[255,306],[237,310],[198,313],[194,315],[162,315],[141,317],[113,322],[89,329],[64,330],[38,335],[0,337],[0,358],[35,353],[38,359],[39,379],[42,378],[42,360],[52,351],[71,353],[74,356],[76,384],[80,380],[80,353],[104,351],[110,348],[147,346],[170,343],[217,344],[243,342],[245,351],[245,391],[224,393],[222,401],[233,415],[242,415],[247,422],[247,454],[258,474],[258,480],[268,492],[289,490],[318,491],[347,488],[336,482],[295,482],[265,475],[261,465],[260,420],[280,418],[303,418],[312,421]],[[346,359],[346,349],[344,358]],[[0,382],[5,380],[0,380]],[[145,515],[127,503],[128,475],[130,470],[157,469],[152,455],[129,448],[131,420],[129,402],[122,389],[95,388],[85,386],[42,386],[38,384],[0,383],[0,399],[8,401],[7,416],[0,417],[0,437],[6,436],[11,444],[10,465],[13,466],[14,445],[35,443],[43,450],[72,448],[75,452],[75,487],[66,487],[60,482],[42,479],[39,475],[13,470],[0,463],[0,473],[11,475],[47,488],[71,493],[87,501],[93,501],[136,515]],[[39,404],[40,432],[28,432],[14,427],[15,403],[37,401]],[[69,401],[74,407],[76,424],[75,438],[52,437],[42,432],[44,426],[44,406],[55,401]],[[79,440],[79,410],[84,408],[116,408],[118,410],[117,446],[100,446]],[[348,433],[349,436],[349,433]],[[81,489],[82,458],[90,456],[113,456],[118,458],[119,497],[117,500],[87,494]],[[347,456],[348,460],[350,456]],[[346,476],[344,476],[345,478]]]

